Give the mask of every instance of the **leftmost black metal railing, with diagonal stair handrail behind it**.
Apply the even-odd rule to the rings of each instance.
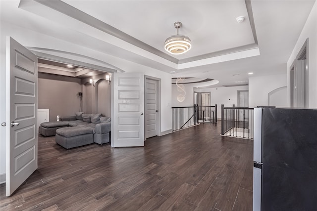
[[[198,106],[172,107],[172,131],[198,124]]]

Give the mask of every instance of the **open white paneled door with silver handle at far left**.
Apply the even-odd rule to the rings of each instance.
[[[6,196],[38,168],[37,56],[6,39]]]

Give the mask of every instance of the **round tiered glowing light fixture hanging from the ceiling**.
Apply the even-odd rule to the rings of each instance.
[[[181,22],[175,22],[174,26],[177,30],[177,35],[167,38],[164,48],[171,54],[185,53],[192,47],[192,41],[185,35],[178,35],[178,29],[182,26]]]

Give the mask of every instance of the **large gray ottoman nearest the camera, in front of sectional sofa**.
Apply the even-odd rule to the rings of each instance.
[[[55,141],[65,149],[94,143],[93,128],[63,127],[56,130]]]

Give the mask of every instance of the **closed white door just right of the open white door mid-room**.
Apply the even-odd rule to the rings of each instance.
[[[146,79],[146,138],[158,135],[158,81]]]

